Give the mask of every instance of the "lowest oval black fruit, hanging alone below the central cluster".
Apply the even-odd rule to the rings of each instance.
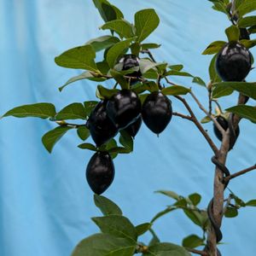
[[[113,182],[114,166],[108,152],[96,152],[86,168],[86,180],[90,189],[101,195]]]

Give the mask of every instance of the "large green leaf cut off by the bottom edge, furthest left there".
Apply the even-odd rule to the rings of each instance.
[[[125,238],[95,234],[80,241],[72,256],[131,256],[137,244]]]

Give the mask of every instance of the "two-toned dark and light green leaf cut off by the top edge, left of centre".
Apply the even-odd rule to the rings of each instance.
[[[93,0],[93,3],[105,22],[124,18],[122,12],[107,0]]]

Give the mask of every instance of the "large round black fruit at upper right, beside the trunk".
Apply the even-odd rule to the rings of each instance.
[[[239,43],[224,45],[216,59],[216,71],[224,81],[241,82],[252,67],[252,57],[248,49]]]

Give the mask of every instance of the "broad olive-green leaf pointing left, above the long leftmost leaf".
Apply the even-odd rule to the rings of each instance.
[[[87,69],[98,72],[95,50],[90,44],[68,49],[61,55],[55,57],[55,63],[61,67]]]

